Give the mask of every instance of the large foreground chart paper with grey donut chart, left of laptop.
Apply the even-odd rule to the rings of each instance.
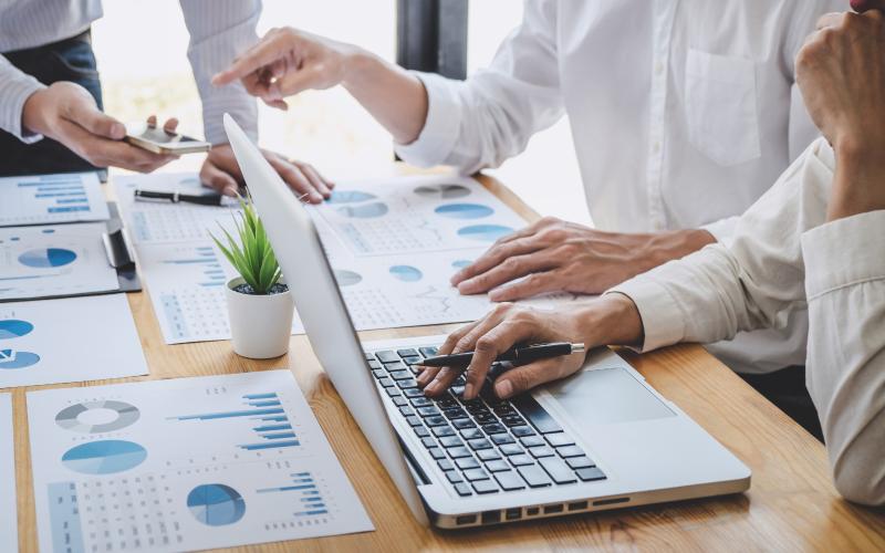
[[[289,371],[28,394],[42,551],[373,530]]]

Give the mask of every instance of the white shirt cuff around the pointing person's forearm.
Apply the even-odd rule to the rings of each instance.
[[[418,138],[409,144],[395,144],[396,154],[418,167],[442,164],[455,147],[461,121],[458,81],[435,73],[413,72],[427,91],[427,118]]]

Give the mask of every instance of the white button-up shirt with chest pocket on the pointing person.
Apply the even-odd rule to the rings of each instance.
[[[491,66],[466,82],[419,74],[429,100],[413,164],[494,167],[568,114],[597,228],[706,228],[736,216],[818,135],[793,60],[844,0],[529,0]],[[555,185],[539,184],[555,194]],[[716,349],[741,372],[801,364],[790,328]]]

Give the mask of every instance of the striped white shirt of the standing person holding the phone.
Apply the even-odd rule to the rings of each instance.
[[[227,143],[221,116],[230,113],[257,138],[258,107],[241,84],[215,87],[211,76],[258,40],[261,0],[180,0],[190,44],[187,55],[202,100],[206,139]],[[134,4],[133,9],[149,9]],[[76,36],[102,17],[101,0],[0,0],[0,52],[12,52]],[[121,44],[119,48],[129,48]],[[24,142],[35,142],[21,127],[28,97],[44,88],[0,55],[0,128]]]

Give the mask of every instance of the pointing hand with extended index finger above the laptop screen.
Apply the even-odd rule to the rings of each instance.
[[[344,81],[347,59],[355,51],[350,44],[296,29],[271,29],[230,67],[216,74],[212,84],[240,80],[249,94],[287,109],[283,97],[331,88]]]

